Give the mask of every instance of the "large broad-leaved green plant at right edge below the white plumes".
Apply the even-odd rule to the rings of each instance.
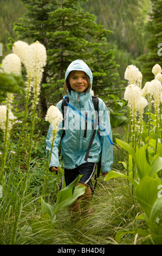
[[[162,183],[157,174],[162,169],[162,158],[159,154],[151,156],[147,143],[135,153],[130,144],[120,139],[116,139],[116,142],[132,156],[137,167],[137,173],[134,175],[136,179],[132,179],[130,173],[124,175],[111,170],[111,172],[106,175],[105,180],[120,176],[128,179],[132,183],[135,187],[135,195],[138,203],[145,213],[145,221],[151,229],[152,238],[155,243],[160,244],[162,241],[160,233],[161,223],[157,222],[157,217],[159,216],[161,218],[160,210],[162,209],[162,198],[158,197],[158,186],[162,186]],[[134,172],[136,172],[136,170],[134,170]]]

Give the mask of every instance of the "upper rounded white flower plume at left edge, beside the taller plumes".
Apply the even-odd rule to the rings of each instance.
[[[21,74],[21,60],[15,53],[10,53],[2,60],[1,68],[7,74]]]

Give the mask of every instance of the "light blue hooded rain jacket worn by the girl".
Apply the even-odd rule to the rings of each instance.
[[[82,60],[75,60],[72,62],[66,71],[65,80],[69,75],[69,72],[72,70],[80,70],[86,72],[90,78],[90,84],[92,86],[93,76],[92,72],[88,68],[87,64]],[[67,90],[68,92],[68,90]],[[89,145],[90,138],[92,137],[94,123],[89,120],[95,120],[95,111],[94,105],[92,102],[92,94],[87,93],[77,93],[74,90],[68,92],[69,104],[72,105],[75,109],[81,112],[86,118],[81,116],[79,113],[74,111],[71,107],[67,107],[66,121],[64,123],[65,135],[61,141],[61,133],[63,131],[62,122],[59,125],[59,131],[57,132],[57,137],[54,142],[50,165],[58,167],[59,164],[59,145],[61,142],[61,154],[64,168],[74,169],[82,163],[85,163],[85,155]],[[57,107],[61,109],[62,100],[57,103]],[[99,121],[102,124],[102,127],[105,128],[107,134],[112,140],[112,130],[109,120],[109,114],[105,103],[99,98]],[[113,146],[111,145],[106,133],[102,129],[96,128],[96,133],[94,137],[93,144],[89,151],[88,162],[99,162],[101,151],[101,173],[106,173],[111,170],[113,164]],[[47,147],[46,150],[51,149],[51,127],[47,133]]]

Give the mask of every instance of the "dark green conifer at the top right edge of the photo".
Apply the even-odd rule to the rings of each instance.
[[[146,30],[149,33],[147,40],[147,53],[140,56],[138,60],[141,62],[141,72],[146,81],[154,79],[152,68],[155,64],[162,66],[161,50],[162,48],[162,20],[161,0],[151,0],[152,8],[149,14],[149,19],[146,24]]]

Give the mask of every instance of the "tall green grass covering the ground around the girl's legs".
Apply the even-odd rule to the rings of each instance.
[[[120,150],[114,150],[115,169],[122,172],[124,155]],[[7,186],[8,174],[5,177]],[[15,207],[20,198],[20,188],[25,173],[18,169],[14,173],[6,209],[0,198],[0,244],[8,245],[15,222]],[[96,186],[91,206],[93,214],[87,218],[72,218],[67,209],[56,214],[54,223],[46,214],[42,215],[40,197],[46,175],[46,160],[33,160],[29,171],[27,193],[22,201],[22,212],[16,232],[17,245],[133,245],[152,244],[151,236],[138,234],[138,229],[148,230],[145,221],[135,220],[142,214],[137,201],[132,198],[131,187],[126,179],[115,178],[104,181],[100,176]],[[46,203],[54,206],[56,194],[59,191],[61,173],[48,173]],[[134,202],[134,204],[133,204]],[[128,232],[117,239],[119,231]],[[133,230],[133,232],[132,232]],[[130,231],[130,232],[129,232]],[[132,232],[132,233],[131,233]]]

